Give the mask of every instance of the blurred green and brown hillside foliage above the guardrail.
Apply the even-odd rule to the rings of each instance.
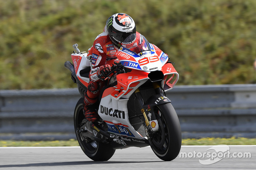
[[[169,55],[177,85],[256,83],[255,0],[0,0],[0,89],[76,87],[64,62],[124,12]]]

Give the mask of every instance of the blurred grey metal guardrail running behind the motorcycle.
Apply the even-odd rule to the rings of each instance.
[[[183,138],[256,137],[256,85],[175,86],[172,100]],[[0,140],[75,137],[74,89],[0,90]]]

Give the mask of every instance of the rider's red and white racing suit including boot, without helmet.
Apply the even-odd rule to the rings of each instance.
[[[132,48],[137,48],[144,44],[141,40],[143,39],[141,39],[140,33],[136,32],[136,41],[132,43]],[[87,56],[92,57],[92,69],[89,74],[88,89],[84,94],[84,114],[89,121],[95,122],[99,117],[95,112],[97,106],[93,104],[98,101],[100,90],[105,85],[105,82],[97,77],[99,74],[98,70],[100,66],[105,64],[111,66],[111,63],[114,63],[114,61],[119,62],[115,60],[117,51],[118,49],[112,44],[105,26],[103,33],[96,37],[93,46],[88,49]]]

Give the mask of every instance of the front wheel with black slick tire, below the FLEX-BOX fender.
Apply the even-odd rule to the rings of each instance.
[[[164,161],[175,159],[181,148],[181,129],[176,111],[171,103],[161,104],[154,108],[159,129],[149,140],[156,156]],[[161,113],[158,115],[157,113]]]

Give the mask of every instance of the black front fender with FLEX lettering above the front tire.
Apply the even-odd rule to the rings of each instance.
[[[156,94],[156,95],[149,97],[148,100],[146,101],[146,103],[143,105],[143,107],[144,108],[154,107],[156,105],[161,105],[164,103],[171,103],[171,102],[172,101],[170,99],[168,99],[168,97],[160,95],[160,94]]]

